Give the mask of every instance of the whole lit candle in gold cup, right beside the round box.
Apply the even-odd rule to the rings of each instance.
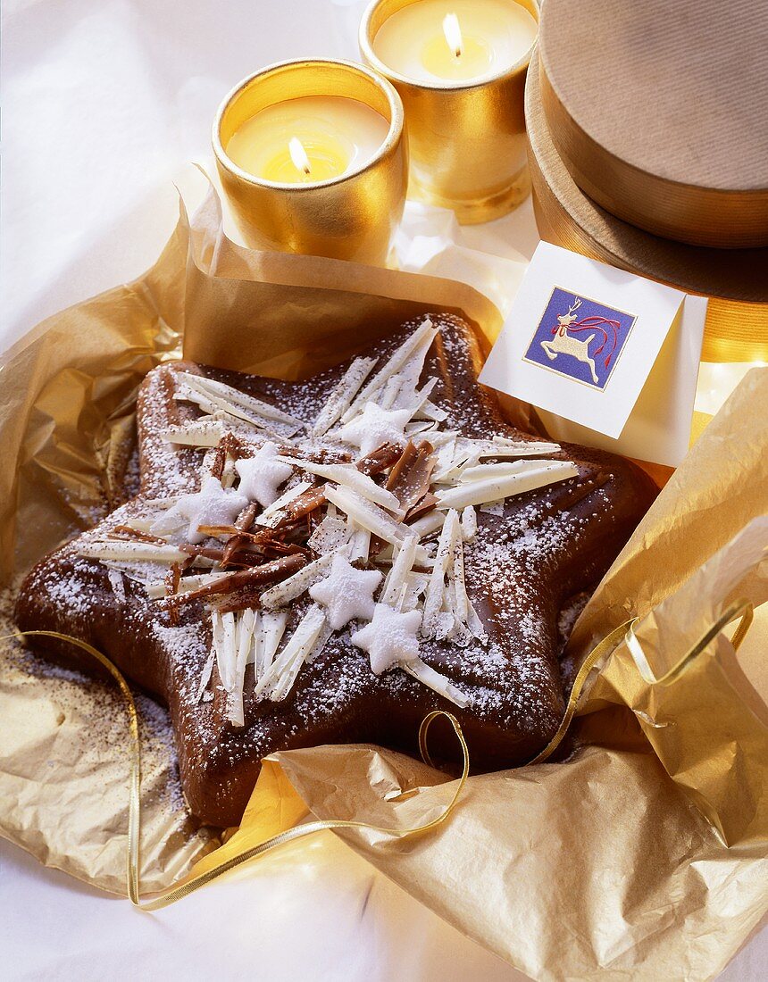
[[[360,50],[403,99],[411,196],[469,224],[527,195],[523,93],[537,25],[536,0],[372,0]]]

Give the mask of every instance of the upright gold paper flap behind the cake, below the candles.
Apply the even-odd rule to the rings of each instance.
[[[463,283],[236,246],[213,191],[191,246],[184,355],[194,361],[306,378],[429,310],[460,313],[491,341],[501,330],[498,308]]]

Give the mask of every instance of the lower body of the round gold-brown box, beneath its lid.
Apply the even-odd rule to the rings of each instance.
[[[537,54],[525,85],[525,122],[533,209],[543,239],[708,297],[702,361],[768,361],[768,248],[675,243],[595,204],[576,186],[555,147],[541,103]]]

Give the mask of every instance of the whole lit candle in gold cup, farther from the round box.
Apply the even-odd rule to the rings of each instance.
[[[383,263],[408,152],[395,88],[350,62],[283,62],[237,85],[213,149],[248,246]]]

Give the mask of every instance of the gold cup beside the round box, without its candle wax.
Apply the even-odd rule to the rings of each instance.
[[[498,218],[530,191],[523,110],[531,47],[510,68],[466,82],[420,81],[385,64],[375,50],[381,27],[421,0],[373,0],[363,15],[363,59],[392,82],[408,122],[409,195],[452,208],[463,225]],[[536,0],[509,0],[538,23]]]

